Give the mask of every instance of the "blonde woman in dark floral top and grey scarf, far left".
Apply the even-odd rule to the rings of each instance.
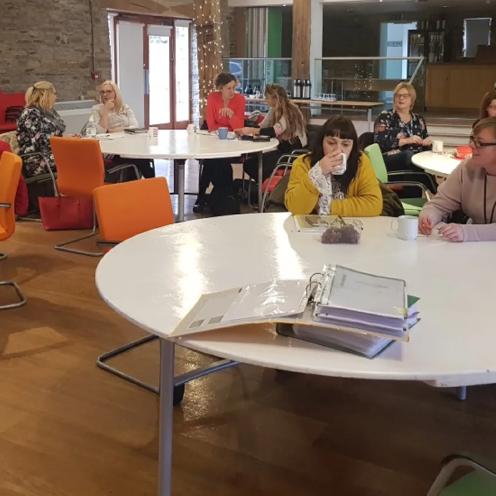
[[[54,109],[56,101],[55,86],[48,81],[39,81],[26,91],[26,107],[17,121],[19,154],[41,154],[23,159],[27,177],[47,174],[47,166],[56,170],[50,138],[62,136],[65,131],[65,124]]]

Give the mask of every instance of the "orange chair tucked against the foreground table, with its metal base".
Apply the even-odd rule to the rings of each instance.
[[[132,236],[174,223],[171,195],[165,178],[100,186],[95,189],[93,196],[102,239],[98,244],[103,245],[107,251]],[[156,386],[127,375],[106,363],[154,339],[158,339],[157,336],[145,336],[104,353],[98,357],[96,365],[132,384],[157,393]],[[175,405],[183,399],[184,390],[184,384],[175,386],[173,399]]]

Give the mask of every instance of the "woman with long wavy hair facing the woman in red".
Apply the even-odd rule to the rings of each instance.
[[[269,111],[260,127],[237,129],[240,135],[261,134],[279,140],[277,150],[263,154],[263,180],[270,177],[281,155],[307,146],[305,119],[297,105],[289,100],[288,93],[280,84],[267,84],[265,101]],[[244,170],[255,182],[258,181],[258,159],[249,158]]]

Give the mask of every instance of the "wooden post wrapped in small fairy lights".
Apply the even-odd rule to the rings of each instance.
[[[220,0],[194,0],[194,25],[198,38],[200,116],[215,76],[222,70]]]

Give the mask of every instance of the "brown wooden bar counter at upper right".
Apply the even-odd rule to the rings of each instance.
[[[478,109],[495,82],[496,65],[428,64],[426,106],[428,109]]]

